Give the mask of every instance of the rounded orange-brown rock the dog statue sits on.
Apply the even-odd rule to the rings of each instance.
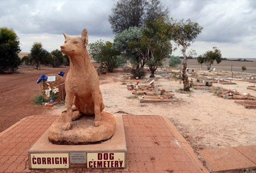
[[[78,114],[77,110],[73,114]],[[53,144],[99,144],[108,140],[115,132],[115,116],[101,112],[100,126],[93,126],[94,116],[82,115],[72,121],[71,129],[63,130],[67,112],[63,112],[49,128],[49,141]]]

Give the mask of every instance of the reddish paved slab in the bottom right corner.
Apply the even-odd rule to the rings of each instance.
[[[237,146],[199,151],[213,172],[256,168],[256,146]]]

